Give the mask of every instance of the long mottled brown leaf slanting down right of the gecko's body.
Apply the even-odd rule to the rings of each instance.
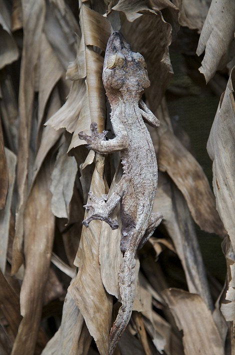
[[[164,114],[167,108],[163,104]],[[158,110],[160,116],[160,108]],[[163,115],[162,115],[162,119]],[[215,200],[202,167],[161,120],[158,167],[166,171],[182,192],[194,221],[203,230],[224,235]]]

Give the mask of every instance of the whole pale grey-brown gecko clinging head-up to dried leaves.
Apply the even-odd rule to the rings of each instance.
[[[118,272],[122,305],[109,334],[109,355],[125,330],[131,316],[135,287],[135,254],[160,223],[160,213],[151,214],[157,188],[157,161],[154,147],[144,122],[153,127],[159,120],[141,99],[150,85],[146,63],[140,53],[133,52],[119,31],[114,31],[107,42],[104,55],[102,81],[111,106],[111,124],[114,138],[107,139],[107,131],[90,125],[91,135],[83,131],[80,139],[87,148],[107,154],[120,151],[123,174],[114,192],[95,196],[89,192],[89,202],[84,205],[88,216],[83,220],[87,227],[92,219],[107,222],[112,229],[118,227],[109,217],[120,202],[122,221],[120,249],[123,252]]]

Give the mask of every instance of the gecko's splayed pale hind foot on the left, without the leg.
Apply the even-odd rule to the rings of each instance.
[[[92,219],[101,219],[108,223],[112,229],[117,229],[117,220],[112,220],[108,216],[110,211],[106,205],[107,195],[102,194],[100,197],[96,197],[93,192],[88,192],[88,195],[91,201],[83,206],[88,211],[88,217],[82,221],[82,224],[88,227],[88,224]]]

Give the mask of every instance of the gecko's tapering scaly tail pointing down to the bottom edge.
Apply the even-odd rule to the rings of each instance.
[[[116,320],[114,321],[110,330],[108,355],[113,353],[119,338],[124,332],[131,316],[135,287],[134,254],[135,253],[133,251],[125,251],[121,261],[118,273],[118,281],[122,305],[119,308]]]

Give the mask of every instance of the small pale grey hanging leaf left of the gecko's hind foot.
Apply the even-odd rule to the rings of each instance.
[[[66,154],[67,147],[67,143],[64,142],[59,148],[51,174],[50,192],[52,213],[56,217],[68,219],[77,163],[74,156]]]

